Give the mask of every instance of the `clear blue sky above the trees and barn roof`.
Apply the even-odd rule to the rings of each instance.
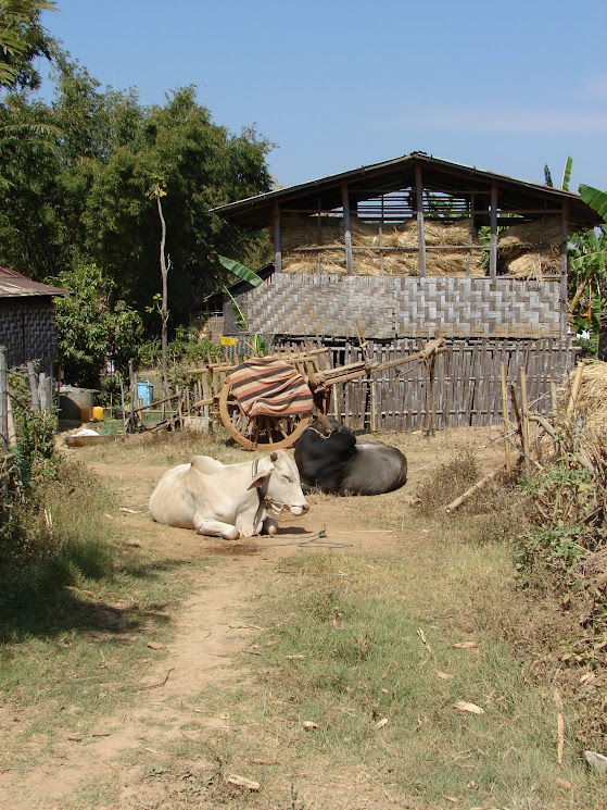
[[[143,103],[197,85],[284,186],[425,151],[607,189],[606,0],[58,0],[43,23]]]

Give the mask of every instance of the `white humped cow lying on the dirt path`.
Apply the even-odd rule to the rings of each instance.
[[[237,540],[276,534],[278,524],[268,512],[305,514],[295,462],[282,451],[242,464],[222,464],[208,456],[168,470],[150,498],[157,523],[193,528],[199,534]]]

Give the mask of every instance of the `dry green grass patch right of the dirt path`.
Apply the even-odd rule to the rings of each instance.
[[[470,806],[556,808],[557,778],[571,782],[584,807],[603,806],[605,784],[571,744],[556,763],[552,697],[529,685],[493,628],[476,621],[486,599],[475,606],[476,591],[488,582],[475,584],[465,562],[473,569],[479,554],[459,548],[454,557],[451,582],[433,591],[427,580],[408,587],[414,572],[401,557],[282,562],[294,576],[261,612],[271,625],[255,659],[264,721],[280,727],[299,762],[326,773],[364,769],[415,807],[442,807],[451,796]],[[470,613],[454,615],[466,613],[464,587]],[[454,646],[465,641],[478,646]],[[482,713],[458,710],[460,701]],[[317,727],[305,731],[305,721]]]

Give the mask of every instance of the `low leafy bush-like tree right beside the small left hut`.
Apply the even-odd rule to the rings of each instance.
[[[65,381],[97,388],[108,360],[126,375],[143,339],[139,314],[124,301],[111,306],[112,285],[94,264],[77,264],[52,281],[73,292],[55,303],[56,354]]]

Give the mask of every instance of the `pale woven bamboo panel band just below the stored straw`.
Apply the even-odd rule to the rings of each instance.
[[[558,338],[560,279],[370,277],[275,273],[239,297],[252,332],[368,338]],[[237,334],[229,303],[225,333]]]

